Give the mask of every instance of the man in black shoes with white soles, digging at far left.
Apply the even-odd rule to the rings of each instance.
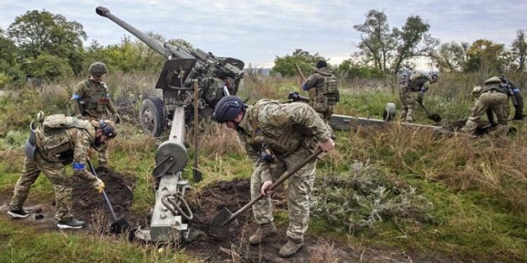
[[[42,112],[37,117],[41,126],[31,128],[30,139],[25,145],[25,161],[22,175],[16,182],[8,214],[12,217],[27,217],[22,208],[30,192],[31,185],[40,172],[44,173],[55,189],[57,227],[60,229],[79,229],[84,222],[72,215],[72,182],[65,173],[65,165],[73,163],[73,174],[102,192],[104,182],[86,170],[86,159],[90,147],[98,147],[117,135],[112,121],[83,121],[64,114],[44,118]]]

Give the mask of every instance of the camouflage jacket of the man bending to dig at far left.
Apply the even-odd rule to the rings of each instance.
[[[50,163],[69,164],[73,162],[74,175],[87,181],[93,181],[95,176],[86,170],[85,163],[88,151],[95,141],[95,128],[90,121],[74,117],[67,118],[72,118],[74,121],[72,126],[51,130],[43,126],[37,128],[35,132],[37,153]]]

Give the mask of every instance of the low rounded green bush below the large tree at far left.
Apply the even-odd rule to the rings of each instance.
[[[73,75],[72,67],[65,58],[56,55],[41,53],[36,59],[30,58],[24,65],[25,72],[30,76],[53,81]]]

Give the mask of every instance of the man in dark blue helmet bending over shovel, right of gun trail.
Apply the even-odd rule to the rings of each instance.
[[[214,119],[238,131],[245,150],[254,162],[251,176],[251,197],[266,196],[252,206],[254,220],[259,224],[249,243],[259,244],[276,233],[273,223],[270,192],[273,176],[297,166],[318,145],[323,151],[334,147],[331,132],[323,119],[305,103],[280,104],[274,100],[259,100],[252,106],[235,96],[223,97],[214,109]],[[287,208],[289,210],[288,241],[280,248],[281,257],[294,255],[304,245],[304,233],[309,222],[309,199],[315,178],[316,159],[289,178]],[[280,172],[279,172],[280,170]]]

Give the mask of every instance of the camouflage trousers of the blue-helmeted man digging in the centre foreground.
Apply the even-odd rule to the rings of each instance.
[[[271,165],[271,174],[273,180],[282,175],[285,170],[297,166],[311,155],[311,152],[301,147],[293,154],[286,156]],[[287,227],[287,236],[289,238],[300,239],[308,228],[309,222],[309,201],[311,190],[315,181],[316,159],[306,164],[292,177],[289,177],[287,185],[287,209],[289,210],[289,227]],[[251,176],[251,198],[256,198],[261,193],[261,170],[256,169]],[[273,221],[273,207],[271,198],[266,197],[252,205],[254,220],[257,224],[266,224]]]

